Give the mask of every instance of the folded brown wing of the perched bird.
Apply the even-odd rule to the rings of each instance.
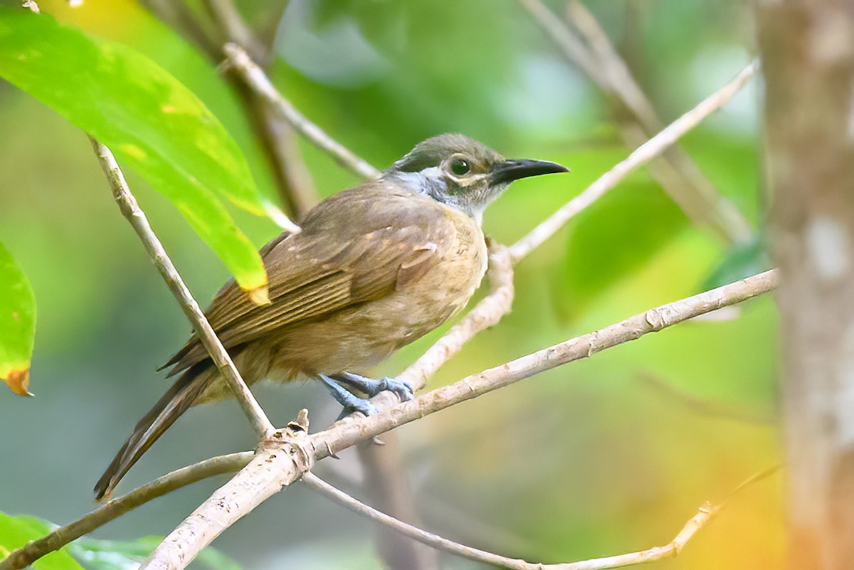
[[[438,262],[455,233],[444,206],[383,193],[386,203],[377,208],[377,196],[367,194],[333,201],[329,209],[343,205],[347,214],[327,211],[314,222],[309,217],[300,234],[269,248],[264,263],[270,305],[254,305],[234,282],[219,291],[206,314],[226,349],[381,299],[420,279]],[[335,218],[348,228],[330,229],[325,222]],[[174,365],[172,375],[206,358],[208,352],[194,335],[164,367]]]

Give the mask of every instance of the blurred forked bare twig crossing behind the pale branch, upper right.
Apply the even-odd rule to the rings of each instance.
[[[537,23],[559,45],[564,55],[587,73],[606,96],[624,109],[640,127],[640,132],[623,124],[623,138],[637,145],[661,130],[662,122],[632,77],[629,67],[611,44],[605,31],[578,0],[567,4],[566,15],[576,27],[579,38],[563,20],[554,15],[541,0],[520,0]],[[709,182],[693,160],[680,148],[670,148],[660,160],[652,162],[650,172],[688,218],[709,224],[724,239],[745,241],[752,234],[750,224],[738,209]]]

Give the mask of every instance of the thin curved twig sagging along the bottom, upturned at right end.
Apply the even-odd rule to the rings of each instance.
[[[342,504],[357,515],[362,515],[371,519],[371,521],[377,521],[394,529],[396,532],[400,532],[404,536],[418,540],[418,542],[427,544],[439,550],[445,550],[451,554],[462,556],[463,558],[468,558],[469,560],[494,564],[495,566],[511,568],[512,570],[605,570],[605,568],[629,566],[631,564],[645,564],[661,560],[662,558],[678,555],[685,547],[685,544],[693,538],[694,534],[711,521],[711,519],[714,518],[715,515],[717,515],[717,513],[726,505],[730,497],[732,497],[736,492],[744,489],[746,486],[752,485],[758,480],[762,480],[770,474],[775,473],[778,468],[779,467],[766,469],[759,474],[753,475],[751,478],[737,486],[734,491],[731,491],[728,497],[721,503],[704,503],[703,506],[699,508],[697,514],[693,515],[693,517],[685,523],[685,526],[682,526],[681,530],[676,534],[676,537],[664,546],[656,546],[651,549],[631,552],[629,554],[606,556],[605,558],[592,558],[584,561],[564,562],[559,564],[542,564],[540,562],[527,562],[515,558],[507,558],[506,556],[497,555],[492,552],[487,552],[486,550],[479,550],[471,548],[471,546],[465,546],[465,544],[455,543],[452,540],[442,538],[432,532],[427,532],[416,526],[408,525],[406,522],[398,521],[394,517],[385,515],[377,509],[372,509],[365,503],[361,503],[354,497],[350,497],[344,491],[336,489],[324,480],[319,479],[315,474],[304,474],[302,476],[302,480],[314,491],[318,491],[324,497],[328,497],[336,503]]]

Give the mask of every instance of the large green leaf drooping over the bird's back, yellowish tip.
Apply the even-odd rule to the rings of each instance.
[[[123,44],[6,8],[0,76],[96,137],[172,201],[241,287],[266,285],[260,256],[218,197],[262,215],[249,166],[184,84]]]

